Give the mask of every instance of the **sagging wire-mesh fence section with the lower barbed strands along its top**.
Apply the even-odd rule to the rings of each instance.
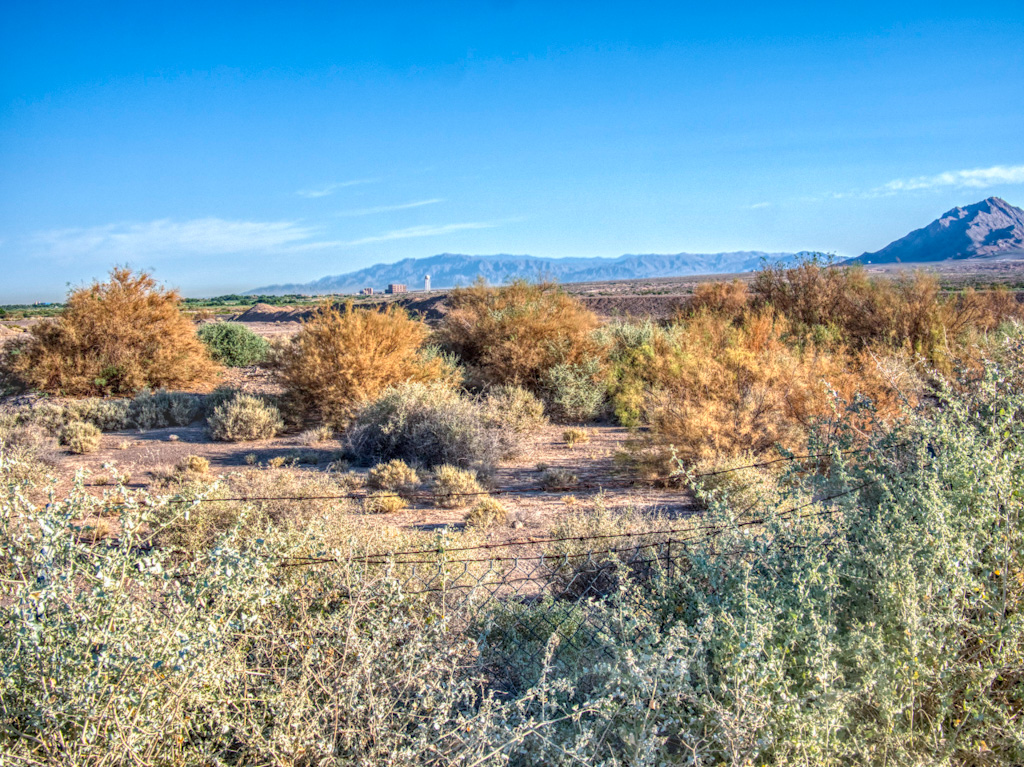
[[[697,529],[623,532],[609,538],[631,538],[633,543],[604,549],[552,552],[543,549],[513,556],[451,558],[434,550],[432,559],[353,560],[366,566],[366,574],[383,566],[409,598],[425,600],[441,609],[453,628],[475,640],[480,659],[499,688],[521,691],[532,684],[543,664],[571,666],[594,652],[605,651],[609,638],[630,642],[629,623],[616,620],[607,598],[629,584],[646,590],[671,589],[690,567],[694,547],[726,531],[775,520],[798,520],[830,516],[838,505],[805,512],[809,506],[829,504],[876,484],[866,481],[839,493],[814,498],[771,516],[733,523],[701,525]],[[659,534],[699,532],[688,537],[654,538]],[[586,543],[601,536],[552,539]],[[831,538],[835,538],[833,536]],[[822,551],[828,549],[825,539]],[[639,540],[637,540],[639,539]],[[766,539],[763,547],[788,546],[788,542]],[[472,547],[460,547],[463,551]],[[482,548],[482,547],[478,547]],[[761,551],[752,541],[720,551],[744,557]],[[426,551],[422,553],[426,554]],[[291,565],[318,564],[293,562]],[[282,566],[291,566],[282,564]],[[643,600],[630,600],[634,617],[650,613]],[[651,617],[645,614],[645,617]],[[640,622],[642,623],[642,622]],[[639,624],[637,624],[639,625]],[[635,630],[639,631],[639,629]]]

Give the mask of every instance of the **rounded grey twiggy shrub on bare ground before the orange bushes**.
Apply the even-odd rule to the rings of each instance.
[[[401,459],[426,467],[488,469],[511,453],[514,435],[489,426],[479,406],[439,384],[402,384],[360,410],[345,434],[358,461]]]

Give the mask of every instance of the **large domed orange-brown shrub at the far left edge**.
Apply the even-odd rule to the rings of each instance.
[[[58,317],[8,348],[4,367],[25,385],[58,394],[203,386],[218,367],[179,303],[145,272],[113,269],[110,282],[72,291]]]

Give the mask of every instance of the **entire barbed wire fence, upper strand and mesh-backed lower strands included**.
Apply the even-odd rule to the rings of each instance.
[[[892,448],[902,448],[895,444]],[[799,456],[786,456],[705,473],[678,472],[664,477],[633,479],[623,486],[651,482],[693,484],[708,477],[782,462],[815,461],[838,455],[864,453],[858,449]],[[840,507],[836,501],[859,493],[879,480],[865,481],[828,495],[814,497],[770,515],[751,512],[758,502],[737,510],[729,523],[706,521],[667,523],[640,531],[599,532],[586,536],[540,536],[474,545],[450,545],[444,536],[433,547],[335,556],[293,556],[273,566],[293,568],[344,564],[355,567],[368,582],[387,578],[397,584],[403,597],[421,600],[439,609],[456,630],[476,640],[481,664],[498,686],[510,691],[534,681],[531,672],[542,661],[570,665],[609,646],[609,632],[622,632],[623,624],[608,622],[603,609],[606,599],[630,584],[643,588],[671,588],[675,579],[685,577],[694,547],[708,546],[726,531],[763,527],[771,519],[799,520],[827,517]],[[595,483],[595,488],[617,486],[616,482]],[[573,492],[579,486],[571,488]],[[536,493],[564,493],[563,488],[537,487]],[[523,488],[497,488],[460,494],[494,496],[522,494]],[[259,503],[266,501],[302,503],[368,497],[365,493],[323,496],[200,497],[171,499],[195,508],[205,503]],[[378,494],[379,495],[379,494]],[[409,499],[417,494],[394,494]],[[421,494],[424,499],[428,497]],[[812,508],[816,507],[816,508]],[[769,542],[769,545],[771,542]],[[731,552],[743,555],[742,550]],[[646,610],[642,603],[635,609]],[[649,615],[647,615],[649,617]],[[617,643],[633,637],[615,636]],[[522,668],[523,659],[529,668]],[[514,663],[513,663],[514,659]]]

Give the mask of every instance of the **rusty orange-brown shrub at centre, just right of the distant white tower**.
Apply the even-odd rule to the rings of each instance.
[[[598,322],[553,284],[518,281],[503,288],[478,282],[449,295],[437,335],[480,384],[542,389],[542,376],[559,364],[578,365],[599,351]]]

